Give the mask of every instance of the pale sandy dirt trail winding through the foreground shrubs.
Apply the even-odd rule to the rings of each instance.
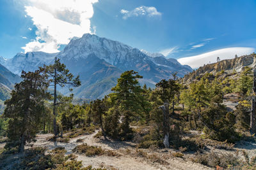
[[[33,146],[46,146],[49,150],[52,150],[58,146],[63,146],[67,150],[67,154],[72,153],[72,149],[77,145],[87,143],[88,145],[101,146],[105,150],[115,150],[115,152],[120,153],[119,157],[109,157],[106,155],[97,157],[86,157],[85,155],[77,155],[77,160],[81,160],[84,166],[92,165],[93,167],[106,167],[107,169],[211,169],[209,167],[202,166],[201,164],[196,164],[193,162],[186,162],[179,158],[170,158],[166,160],[168,165],[159,164],[157,162],[150,162],[143,159],[142,157],[132,157],[131,155],[125,155],[121,153],[120,149],[129,148],[129,150],[135,151],[135,144],[130,142],[122,141],[112,141],[93,138],[95,134],[99,132],[95,131],[90,135],[78,136],[77,138],[72,138],[68,143],[59,143],[47,141],[52,134],[39,134],[36,139],[36,143]],[[77,139],[83,139],[83,142],[77,143]]]

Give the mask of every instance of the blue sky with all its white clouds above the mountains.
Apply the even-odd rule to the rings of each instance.
[[[91,33],[198,67],[256,51],[255,9],[255,0],[0,0],[0,56],[59,52]]]

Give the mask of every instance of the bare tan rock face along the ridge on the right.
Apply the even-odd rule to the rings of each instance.
[[[218,73],[219,71],[225,71],[226,73],[232,73],[234,71],[240,72],[243,67],[255,67],[256,66],[256,54],[252,53],[250,55],[244,55],[237,57],[235,59],[221,60],[213,64],[207,64],[205,66],[199,67],[193,72],[186,74],[182,79],[183,83],[190,83],[196,80],[197,76],[203,75],[205,73]]]

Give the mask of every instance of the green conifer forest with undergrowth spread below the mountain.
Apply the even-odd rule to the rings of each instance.
[[[256,157],[249,159],[246,153],[243,153],[244,161],[235,156],[204,153],[206,145],[229,150],[239,141],[255,142],[256,81],[252,67],[243,67],[241,73],[235,70],[230,74],[225,71],[205,73],[190,83],[176,75],[173,73],[170,80],[161,80],[151,89],[141,86],[140,73],[125,71],[111,94],[103,99],[77,103],[76,96],[62,96],[58,92],[60,88],[72,92],[72,88],[81,85],[79,76],[74,77],[59,59],[35,72],[23,71],[22,81],[4,102],[0,140],[6,145],[0,150],[0,159],[14,153],[30,153],[41,156],[31,160],[32,164],[23,161],[20,169],[29,166],[31,169],[93,169],[83,167],[81,162],[70,159],[71,156],[60,161],[65,153],[63,148],[44,155],[42,148],[31,152],[29,145],[39,133],[53,134],[49,139],[52,142],[68,143],[72,138],[99,129],[97,138],[134,141],[140,151],[173,148],[177,150],[172,154],[174,157],[193,153],[193,162],[208,167],[256,168]],[[227,94],[237,96],[236,110],[225,106]],[[191,132],[200,135],[184,138]],[[91,154],[88,150],[92,155],[104,154],[100,148],[86,144],[75,150],[88,155]],[[58,161],[54,159],[56,155]],[[68,159],[71,161],[66,161]]]

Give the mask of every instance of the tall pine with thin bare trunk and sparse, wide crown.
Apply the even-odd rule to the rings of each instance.
[[[69,70],[66,69],[65,64],[62,64],[60,62],[60,59],[57,59],[55,57],[54,64],[51,64],[49,66],[41,67],[45,73],[45,76],[47,76],[47,79],[49,80],[50,85],[54,86],[54,101],[53,101],[53,130],[55,137],[58,134],[57,131],[57,125],[56,125],[56,107],[57,107],[57,85],[60,87],[67,86],[69,89],[70,87],[78,87],[81,85],[81,81],[79,80],[79,76],[74,78],[72,73],[69,73]],[[70,89],[72,90],[72,89]]]

